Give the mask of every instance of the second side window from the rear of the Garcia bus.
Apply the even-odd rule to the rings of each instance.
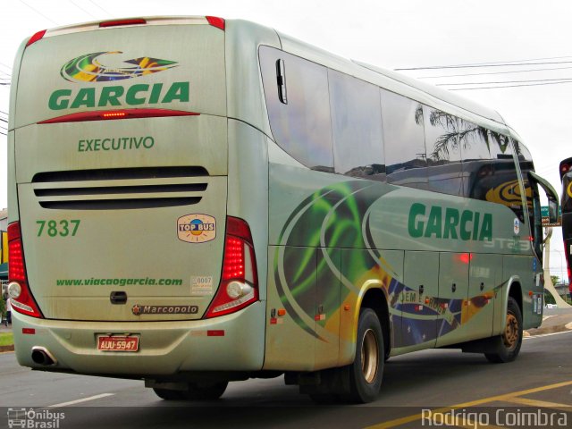
[[[335,172],[385,180],[379,88],[339,71],[328,71]]]

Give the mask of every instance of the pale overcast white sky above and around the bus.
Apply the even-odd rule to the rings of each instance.
[[[403,72],[497,110],[530,149],[536,172],[560,192],[559,161],[572,156],[569,0],[3,0],[0,84],[21,41],[40,29],[155,15],[246,19],[365,63],[424,68]],[[9,88],[0,85],[0,120],[9,114]],[[3,125],[0,208],[7,206]],[[551,272],[562,278],[560,234],[555,229]]]

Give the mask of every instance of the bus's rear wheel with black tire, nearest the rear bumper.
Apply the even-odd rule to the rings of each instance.
[[[354,403],[371,402],[382,387],[383,332],[379,318],[371,308],[363,308],[357,322],[356,358],[344,369],[349,372],[349,391],[344,400]]]

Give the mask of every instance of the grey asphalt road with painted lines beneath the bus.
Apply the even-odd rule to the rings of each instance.
[[[231,383],[216,402],[168,402],[142,382],[30,371],[18,366],[13,353],[4,353],[0,427],[8,427],[8,408],[44,413],[37,421],[63,413],[56,429],[429,427],[419,413],[426,417],[429,409],[440,413],[437,408],[451,406],[492,417],[499,409],[518,414],[542,408],[555,416],[568,413],[566,425],[553,420],[555,425],[547,427],[570,427],[571,359],[572,332],[527,338],[517,361],[504,365],[458,350],[426,350],[387,362],[383,392],[374,403],[324,407],[299,395],[296,386],[284,385],[282,377]],[[456,423],[475,427],[471,418]]]

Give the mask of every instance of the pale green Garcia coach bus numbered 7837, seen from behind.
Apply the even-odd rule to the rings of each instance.
[[[558,196],[490,109],[210,16],[40,31],[13,70],[22,366],[368,402],[392,356],[509,362],[542,322]]]

